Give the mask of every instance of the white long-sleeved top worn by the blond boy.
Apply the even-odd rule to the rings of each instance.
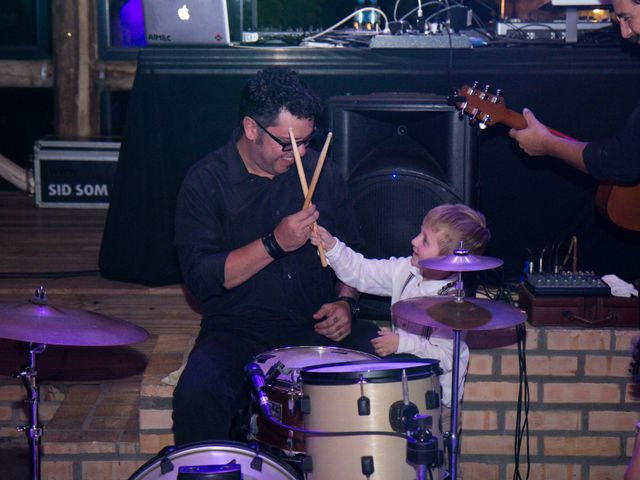
[[[337,277],[363,293],[391,297],[391,304],[413,297],[435,296],[448,283],[455,281],[455,274],[445,280],[425,280],[417,267],[411,265],[411,257],[389,259],[364,258],[361,253],[335,239],[334,247],[326,252],[327,261]],[[411,274],[411,279],[407,278]],[[405,286],[406,285],[406,286]],[[429,338],[393,328],[399,336],[396,353],[410,353],[421,358],[440,361],[444,371],[440,375],[442,403],[451,407],[451,382],[453,368],[453,332],[434,330]],[[460,368],[458,398],[464,393],[464,378],[469,363],[469,347],[460,342]]]

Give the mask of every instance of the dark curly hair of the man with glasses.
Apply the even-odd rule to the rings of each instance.
[[[240,121],[246,116],[271,126],[283,109],[298,118],[315,118],[322,101],[298,74],[286,67],[267,67],[247,82],[240,98]]]

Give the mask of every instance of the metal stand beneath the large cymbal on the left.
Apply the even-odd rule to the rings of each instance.
[[[18,427],[18,431],[25,432],[31,447],[31,473],[33,480],[40,480],[40,438],[42,437],[42,425],[38,416],[38,404],[40,392],[38,388],[36,370],[36,355],[44,352],[46,345],[41,343],[29,344],[29,366],[23,368],[16,378],[22,380],[27,389],[27,403],[31,404],[31,424]]]

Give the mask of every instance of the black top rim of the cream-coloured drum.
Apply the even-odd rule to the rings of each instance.
[[[318,372],[315,370],[321,368],[328,368],[342,365],[366,365],[370,363],[416,363],[418,365],[412,365],[410,367],[396,367],[384,370],[354,370],[354,371],[341,371],[341,372]],[[425,367],[432,367],[426,370]],[[398,374],[405,370],[408,380],[418,380],[421,378],[442,375],[443,370],[440,367],[440,360],[419,358],[415,360],[409,360],[406,358],[388,359],[383,362],[371,362],[368,360],[356,360],[354,362],[336,362],[325,363],[324,365],[313,365],[300,370],[300,382],[302,383],[303,390],[305,383],[308,385],[350,385],[357,383],[361,378],[365,379],[367,383],[390,383],[397,382]],[[363,375],[364,374],[364,375]]]

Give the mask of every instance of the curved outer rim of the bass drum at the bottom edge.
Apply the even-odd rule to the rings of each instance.
[[[206,449],[207,446],[221,446],[221,447],[230,447],[235,448],[243,453],[253,452],[254,457],[260,457],[263,459],[270,460],[272,463],[270,464],[274,468],[278,467],[284,473],[287,473],[291,476],[292,480],[298,478],[297,472],[293,469],[293,467],[283,463],[278,458],[270,453],[266,453],[262,451],[262,448],[259,445],[253,445],[252,443],[242,443],[242,442],[234,442],[231,440],[220,440],[220,441],[202,441],[202,442],[191,442],[185,443],[182,445],[168,445],[162,448],[153,458],[149,459],[145,462],[140,468],[138,468],[128,480],[144,480],[146,475],[151,473],[150,467],[155,466],[156,463],[159,465],[163,458],[169,458],[170,460],[174,455],[177,455],[185,450],[191,451],[195,450],[196,452],[208,451]],[[278,470],[276,468],[276,470]],[[279,472],[280,473],[280,472]]]

